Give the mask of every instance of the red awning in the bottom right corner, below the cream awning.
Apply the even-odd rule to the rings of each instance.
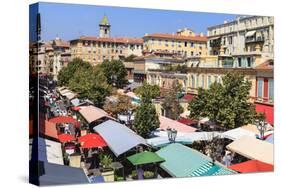
[[[243,163],[238,163],[228,168],[241,173],[251,172],[270,172],[273,171],[274,166],[258,160],[249,160]]]

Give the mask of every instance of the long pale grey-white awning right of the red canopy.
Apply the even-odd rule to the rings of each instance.
[[[146,140],[134,131],[113,120],[107,120],[94,130],[102,136],[112,152],[119,156],[138,145],[146,145]]]

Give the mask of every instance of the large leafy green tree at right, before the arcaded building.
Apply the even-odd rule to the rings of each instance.
[[[236,128],[252,123],[257,117],[249,102],[251,83],[243,75],[228,73],[223,84],[213,83],[210,89],[198,90],[198,95],[189,103],[190,117],[209,117],[211,121],[226,128]]]

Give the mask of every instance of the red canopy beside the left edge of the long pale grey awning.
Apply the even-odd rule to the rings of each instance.
[[[81,136],[78,139],[78,142],[81,143],[82,148],[97,148],[107,146],[104,139],[100,135],[94,133]]]

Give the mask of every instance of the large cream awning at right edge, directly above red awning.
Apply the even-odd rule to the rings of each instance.
[[[227,145],[226,148],[248,159],[273,164],[273,144],[271,143],[243,136]]]

